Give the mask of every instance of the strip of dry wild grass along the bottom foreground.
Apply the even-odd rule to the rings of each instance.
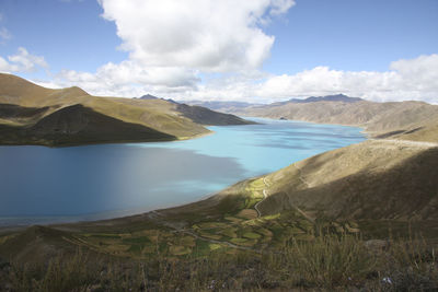
[[[210,244],[215,245],[215,244]],[[237,290],[379,290],[438,289],[435,249],[420,237],[391,241],[370,249],[357,236],[318,236],[286,241],[263,255],[210,246],[207,257],[142,261],[99,260],[80,250],[45,265],[3,262],[0,290],[13,291],[237,291]],[[185,247],[172,247],[184,254]]]

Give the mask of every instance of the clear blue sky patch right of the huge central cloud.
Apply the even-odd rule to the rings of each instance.
[[[437,15],[436,0],[297,1],[287,21],[266,30],[276,44],[264,68],[384,71],[391,61],[437,52]]]

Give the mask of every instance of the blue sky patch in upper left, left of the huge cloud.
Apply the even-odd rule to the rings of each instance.
[[[101,17],[102,12],[94,0],[2,0],[1,25],[12,36],[0,46],[1,56],[25,47],[44,56],[54,72],[94,71],[108,61],[119,62],[128,54],[117,49],[122,42],[116,26]]]

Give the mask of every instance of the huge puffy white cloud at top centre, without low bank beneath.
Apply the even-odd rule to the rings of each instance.
[[[269,56],[274,36],[260,25],[286,13],[293,0],[100,0],[122,48],[148,67],[203,71],[254,70]]]

